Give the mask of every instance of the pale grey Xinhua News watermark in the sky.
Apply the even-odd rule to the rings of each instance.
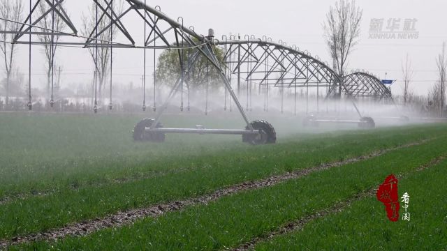
[[[372,18],[369,39],[418,39],[416,18]]]

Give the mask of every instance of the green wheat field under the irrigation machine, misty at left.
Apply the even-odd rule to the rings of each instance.
[[[0,250],[233,250],[251,242],[254,250],[447,250],[446,124],[334,130],[271,118],[277,144],[225,135],[134,142],[142,116],[0,114]],[[226,116],[167,115],[162,123],[244,127]],[[335,162],[131,224],[15,243]],[[374,193],[358,197],[389,174],[400,179],[399,195],[410,195],[411,221],[390,222]]]

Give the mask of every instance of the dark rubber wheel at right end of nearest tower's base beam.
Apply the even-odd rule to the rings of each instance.
[[[277,142],[277,132],[267,121],[257,120],[251,122],[250,125],[254,130],[259,130],[261,133],[259,135],[242,135],[242,142],[253,145],[274,144]],[[249,127],[246,126],[245,130],[249,130]]]

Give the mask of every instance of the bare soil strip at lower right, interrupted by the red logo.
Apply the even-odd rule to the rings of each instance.
[[[430,168],[434,165],[439,164],[442,160],[446,159],[446,155],[439,156],[437,158],[434,158],[429,163],[422,165],[416,169],[416,171],[413,172],[420,172],[427,168]],[[409,174],[413,173],[409,172],[406,175],[399,175],[397,176],[398,179],[405,178],[405,176],[408,176]],[[330,208],[325,208],[321,211],[318,211],[312,215],[307,215],[304,218],[301,218],[300,220],[297,220],[295,222],[288,222],[283,227],[277,229],[276,231],[272,231],[270,233],[265,234],[266,237],[263,238],[254,238],[253,240],[244,243],[240,245],[240,247],[233,249],[233,251],[248,251],[253,249],[256,244],[261,243],[263,241],[268,241],[274,236],[279,236],[283,234],[288,234],[293,231],[300,231],[304,229],[305,225],[307,223],[312,222],[312,220],[316,220],[318,218],[324,218],[326,215],[334,214],[334,213],[340,213],[344,211],[344,209],[348,208],[353,202],[360,201],[361,199],[365,199],[367,197],[372,197],[376,195],[377,188],[372,188],[370,190],[366,190],[363,192],[358,193],[357,195],[354,195],[353,197],[346,199],[345,201],[340,201],[339,203],[331,206]]]

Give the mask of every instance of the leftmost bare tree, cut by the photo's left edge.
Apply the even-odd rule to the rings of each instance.
[[[0,15],[6,20],[13,22],[8,22],[6,20],[1,20],[1,28],[4,31],[18,31],[20,29],[20,24],[22,22],[22,12],[23,4],[21,0],[0,0]],[[16,47],[13,43],[13,37],[15,34],[2,33],[0,34],[0,50],[5,63],[5,74],[6,74],[6,106],[9,102],[9,89],[10,89],[10,78],[11,73],[13,73],[14,68],[14,56],[16,52]]]

